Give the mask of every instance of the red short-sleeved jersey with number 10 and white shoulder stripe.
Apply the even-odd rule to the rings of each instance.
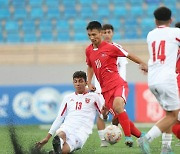
[[[89,45],[86,48],[86,62],[92,67],[102,92],[126,83],[119,75],[117,58],[126,57],[128,52],[121,46],[102,41],[98,48]]]

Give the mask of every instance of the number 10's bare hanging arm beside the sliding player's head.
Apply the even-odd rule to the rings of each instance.
[[[93,75],[94,75],[93,68],[88,65],[88,67],[87,67],[87,80],[88,80],[87,85],[88,85],[88,88],[90,91],[96,90],[96,87],[92,84]]]

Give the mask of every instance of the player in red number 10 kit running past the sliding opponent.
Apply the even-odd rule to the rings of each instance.
[[[117,70],[117,58],[127,57],[138,63],[143,71],[147,72],[147,65],[138,57],[128,53],[121,46],[102,41],[102,26],[98,21],[91,21],[87,25],[87,33],[92,44],[86,48],[86,62],[88,65],[88,87],[95,91],[91,83],[95,73],[98,79],[102,95],[105,99],[105,106],[111,113],[118,117],[125,134],[125,144],[132,146],[130,121],[124,111],[128,94],[127,83],[120,77]]]

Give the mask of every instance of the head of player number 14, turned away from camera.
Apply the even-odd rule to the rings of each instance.
[[[154,17],[157,25],[169,25],[172,22],[171,10],[165,6],[161,6],[154,11]]]

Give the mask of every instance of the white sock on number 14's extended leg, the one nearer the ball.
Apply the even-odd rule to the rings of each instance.
[[[159,137],[162,134],[161,130],[154,125],[145,135],[147,138],[148,142],[152,142],[155,138]]]

